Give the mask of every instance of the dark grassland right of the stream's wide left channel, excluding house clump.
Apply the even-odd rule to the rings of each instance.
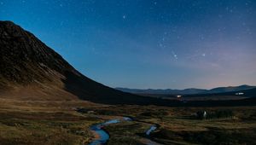
[[[233,117],[196,119],[201,110],[232,110]],[[162,144],[256,144],[256,107],[97,107],[97,115],[130,116],[132,122],[106,127],[109,144],[143,143],[150,125],[159,129],[150,136]]]

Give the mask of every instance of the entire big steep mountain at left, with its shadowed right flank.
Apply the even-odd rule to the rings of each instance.
[[[85,77],[53,49],[11,21],[0,21],[0,98],[158,104]]]

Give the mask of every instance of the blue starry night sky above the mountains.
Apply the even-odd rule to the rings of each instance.
[[[111,87],[256,84],[254,0],[0,0],[0,20]]]

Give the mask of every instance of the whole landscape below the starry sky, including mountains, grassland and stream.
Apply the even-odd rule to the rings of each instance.
[[[254,86],[115,90],[12,21],[0,54],[1,145],[256,144]]]

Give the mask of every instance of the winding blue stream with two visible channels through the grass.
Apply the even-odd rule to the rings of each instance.
[[[90,126],[90,130],[94,131],[96,133],[96,140],[90,142],[90,145],[103,145],[103,144],[107,144],[108,139],[109,139],[109,135],[108,132],[104,131],[102,128],[106,125],[111,125],[111,124],[117,124],[120,123],[121,121],[132,121],[131,118],[129,117],[123,117],[122,119],[111,119],[108,120],[104,123],[101,124],[96,124],[96,125],[92,125]],[[146,131],[146,135],[149,136],[150,133],[152,131],[155,131],[157,129],[157,127],[155,125],[150,126],[150,128],[148,129],[148,131]],[[151,140],[148,139],[147,141],[148,145],[154,145],[154,144],[158,144],[156,142],[153,142]]]

